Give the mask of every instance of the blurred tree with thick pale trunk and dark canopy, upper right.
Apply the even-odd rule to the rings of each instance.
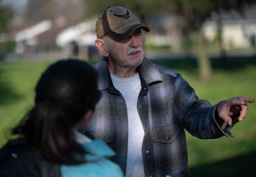
[[[172,0],[172,3],[176,5],[175,13],[184,16],[188,20],[189,26],[196,31],[198,40],[198,68],[200,73],[200,78],[203,80],[208,80],[211,77],[211,63],[207,57],[204,44],[204,36],[202,31],[203,22],[211,16],[213,12],[218,15],[218,35],[219,39],[222,39],[222,22],[220,11],[230,11],[236,10],[243,14],[246,6],[255,3],[256,0]],[[225,51],[220,44],[220,53],[222,56],[225,55]],[[225,58],[225,57],[223,57]]]

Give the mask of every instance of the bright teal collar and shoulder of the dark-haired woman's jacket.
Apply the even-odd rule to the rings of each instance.
[[[60,165],[62,177],[123,177],[121,168],[107,158],[114,156],[115,152],[101,139],[94,139],[90,143],[83,143],[86,163],[79,165]]]

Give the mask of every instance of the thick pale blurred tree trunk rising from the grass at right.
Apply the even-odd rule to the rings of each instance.
[[[197,64],[199,70],[200,79],[206,81],[211,78],[212,75],[212,68],[210,59],[207,56],[206,48],[204,46],[204,35],[202,28],[197,31],[197,41],[198,41],[198,57],[197,57]]]

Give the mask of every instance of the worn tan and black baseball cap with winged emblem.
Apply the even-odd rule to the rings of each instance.
[[[108,7],[96,22],[97,39],[108,35],[121,40],[127,38],[135,29],[141,27],[149,32],[149,27],[142,24],[129,9],[119,6]]]

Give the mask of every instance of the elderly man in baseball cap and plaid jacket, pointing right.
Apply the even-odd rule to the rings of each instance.
[[[233,138],[231,127],[247,115],[237,97],[212,106],[200,100],[182,76],[145,58],[144,31],[130,10],[109,7],[96,23],[95,65],[102,98],[87,127],[116,152],[111,160],[128,176],[189,176],[186,129],[201,139]],[[241,114],[239,112],[241,111]]]

